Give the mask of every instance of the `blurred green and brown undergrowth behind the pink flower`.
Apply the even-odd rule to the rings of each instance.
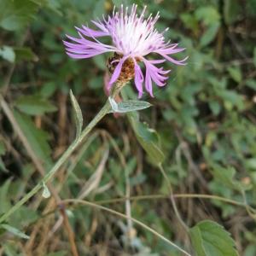
[[[158,29],[170,27],[166,38],[189,55],[185,67],[165,64],[172,69],[168,84],[155,86],[154,98],[143,96],[153,107],[140,112],[137,128],[153,148],[161,148],[157,157],[162,160],[165,155],[163,166],[174,193],[218,195],[255,206],[255,0],[0,0],[0,214],[40,180],[32,154],[47,172],[72,143],[75,123],[69,90],[79,102],[85,125],[106,101],[108,55],[73,61],[61,40],[65,34],[75,35],[74,26],[92,26],[90,20],[120,3],[137,3],[139,9],[147,4],[148,14],[160,11]],[[125,95],[137,99],[133,83],[126,86]],[[141,147],[127,117],[109,114],[51,182],[57,195],[44,199],[38,193],[9,218],[9,224],[30,239],[0,229],[0,255],[73,255],[68,224],[79,255],[182,255],[142,227],[108,212],[67,206],[61,214],[56,206],[58,197],[125,197],[127,178],[132,196],[148,195],[147,200],[131,200],[133,218],[192,255],[236,255],[215,249],[203,254],[195,247],[192,251],[169,199],[155,198],[167,195],[168,186],[154,160]],[[176,201],[189,227],[214,220],[230,232],[240,255],[256,255],[252,208],[202,198]],[[105,206],[127,211],[124,201]]]

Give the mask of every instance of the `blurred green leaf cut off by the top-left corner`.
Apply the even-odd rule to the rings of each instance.
[[[9,31],[19,30],[34,18],[38,7],[39,3],[32,0],[1,0],[0,26]]]

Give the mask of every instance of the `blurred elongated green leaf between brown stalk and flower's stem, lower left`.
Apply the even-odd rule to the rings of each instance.
[[[16,121],[20,125],[21,131],[23,131],[24,135],[26,136],[26,139],[34,150],[34,153],[38,156],[39,160],[42,161],[43,165],[45,165],[47,168],[51,167],[51,150],[47,142],[49,139],[48,133],[39,130],[28,115],[19,113],[17,111],[14,111],[14,114]]]

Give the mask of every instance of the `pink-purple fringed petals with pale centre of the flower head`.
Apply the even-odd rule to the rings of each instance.
[[[119,77],[124,73],[125,63],[131,62],[132,78],[134,77],[135,85],[138,90],[139,97],[143,95],[143,84],[148,93],[153,96],[152,80],[158,86],[166,85],[166,76],[171,70],[164,70],[163,67],[156,65],[164,61],[171,61],[176,65],[185,65],[187,57],[182,61],[177,61],[171,57],[184,50],[178,48],[177,44],[170,44],[170,41],[165,42],[164,32],[158,32],[154,25],[160,18],[157,14],[155,17],[149,15],[144,18],[146,7],[140,16],[137,16],[137,5],[132,5],[131,10],[123,6],[119,11],[113,9],[113,15],[108,15],[108,19],[103,17],[103,20],[91,22],[97,27],[97,30],[90,29],[87,26],[81,28],[76,27],[79,33],[79,38],[73,38],[67,35],[70,42],[63,41],[67,55],[73,59],[86,59],[96,55],[101,55],[106,52],[113,52],[119,55],[119,59],[112,61],[114,70],[112,77],[108,83],[108,89],[118,81]],[[98,38],[110,37],[112,45],[103,44]],[[72,43],[71,43],[72,42]],[[161,56],[160,60],[147,60],[146,55],[155,53]],[[145,76],[138,62],[143,62],[146,67]]]

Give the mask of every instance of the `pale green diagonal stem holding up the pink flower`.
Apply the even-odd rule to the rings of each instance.
[[[55,173],[60,169],[60,167],[67,161],[69,156],[73,151],[79,147],[83,142],[84,137],[86,137],[92,128],[110,111],[111,107],[107,101],[99,113],[96,114],[96,117],[90,121],[90,124],[84,128],[81,135],[67,148],[64,154],[61,155],[61,158],[55,163],[55,166],[44,176],[44,178],[39,182],[30,192],[28,192],[20,201],[18,201],[15,206],[11,207],[8,212],[5,212],[0,218],[0,224],[6,221],[7,218],[15,211],[17,211],[22,205],[26,203],[33,195],[38,193],[38,191],[43,187],[44,184],[48,183],[49,180],[55,175]]]

